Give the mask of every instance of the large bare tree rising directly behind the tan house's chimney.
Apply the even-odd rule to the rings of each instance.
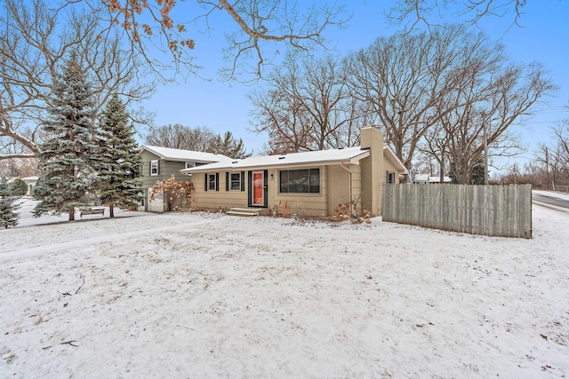
[[[437,122],[436,105],[455,85],[449,73],[467,37],[458,26],[400,32],[346,59],[352,93],[369,104],[386,142],[408,168],[421,138]]]

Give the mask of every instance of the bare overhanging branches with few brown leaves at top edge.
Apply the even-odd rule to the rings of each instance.
[[[93,6],[98,3],[85,1]],[[325,28],[341,27],[345,10],[338,4],[316,6],[289,0],[168,0],[156,4],[146,0],[104,0],[103,4],[108,6],[110,20],[128,33],[133,51],[155,63],[147,51],[149,46],[161,45],[189,73],[199,68],[191,51],[204,46],[204,32],[213,32],[211,20],[228,17],[230,22],[223,28],[228,40],[224,53],[229,61],[223,74],[228,79],[235,79],[240,70],[260,77],[263,67],[279,54],[279,48],[308,51],[315,45],[325,45]]]

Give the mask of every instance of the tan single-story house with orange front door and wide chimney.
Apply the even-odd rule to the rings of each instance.
[[[192,175],[197,209],[256,208],[266,213],[329,216],[339,204],[381,214],[386,182],[398,183],[405,165],[381,131],[361,130],[361,147],[250,157],[181,170]]]

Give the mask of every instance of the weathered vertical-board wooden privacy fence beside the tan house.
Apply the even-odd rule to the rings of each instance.
[[[385,185],[383,221],[532,238],[532,186]]]

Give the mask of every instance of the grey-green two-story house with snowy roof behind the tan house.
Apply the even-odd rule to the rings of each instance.
[[[230,162],[231,158],[222,154],[196,152],[191,150],[173,149],[160,146],[140,146],[142,157],[141,177],[144,189],[144,200],[139,210],[162,212],[164,199],[156,196],[155,201],[149,201],[152,187],[156,181],[168,179],[172,174],[176,180],[190,180],[188,176],[180,174],[180,170],[212,162]]]

